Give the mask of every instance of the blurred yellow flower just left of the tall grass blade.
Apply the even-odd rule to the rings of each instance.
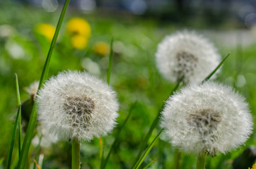
[[[55,27],[48,23],[40,23],[35,26],[35,32],[45,36],[49,41],[52,41],[55,32]]]

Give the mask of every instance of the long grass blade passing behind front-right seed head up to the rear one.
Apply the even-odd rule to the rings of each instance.
[[[170,95],[172,95],[177,89],[178,87],[180,87],[180,83],[182,82],[182,80],[184,79],[184,76],[182,76],[180,78],[180,80],[178,81],[178,83],[176,84],[175,88],[173,89],[173,91],[170,93]],[[161,115],[161,111],[163,109],[163,106],[165,104],[163,104],[161,106],[161,108],[158,111],[158,115],[156,115],[156,118],[153,120],[153,123],[151,124],[150,128],[149,128],[149,132],[146,134],[146,137],[144,138],[142,145],[141,145],[141,149],[139,150],[139,154],[136,156],[136,161],[139,160],[139,157],[141,156],[141,154],[143,153],[144,149],[146,148],[146,144],[148,144],[149,138],[151,137],[151,134],[153,132],[153,130],[156,128],[156,126],[158,125],[158,121],[159,121],[159,117]],[[136,164],[136,161],[134,163],[134,165]],[[133,165],[133,166],[134,166]]]

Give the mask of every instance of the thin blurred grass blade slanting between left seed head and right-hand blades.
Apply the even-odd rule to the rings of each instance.
[[[103,161],[103,164],[101,165],[101,169],[105,168],[105,166],[107,165],[107,161],[108,159],[110,158],[110,154],[111,152],[113,151],[115,145],[117,144],[118,142],[118,139],[119,139],[119,135],[122,131],[122,129],[124,128],[124,125],[127,123],[127,120],[129,119],[131,113],[132,113],[132,110],[134,109],[134,107],[136,106],[136,103],[137,101],[134,102],[134,104],[132,104],[131,108],[129,109],[129,113],[127,115],[127,118],[125,118],[124,120],[124,123],[122,124],[122,126],[120,127],[120,129],[118,130],[117,134],[115,134],[115,140],[114,142],[112,143],[111,147],[110,147],[110,151],[108,151],[108,154],[107,154],[107,157],[105,158],[105,160]]]

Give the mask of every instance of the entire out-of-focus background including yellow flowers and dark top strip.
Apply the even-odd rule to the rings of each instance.
[[[0,168],[6,165],[17,110],[14,73],[20,84],[25,132],[35,94],[29,86],[40,80],[63,4],[63,0],[0,1]],[[178,30],[195,30],[204,35],[214,42],[221,56],[231,51],[217,81],[243,94],[255,115],[256,1],[71,0],[50,63],[50,76],[62,70],[86,70],[106,80],[110,41],[114,38],[110,84],[118,94],[120,117],[119,125],[105,137],[106,152],[130,106],[137,101],[107,168],[131,168],[141,140],[175,86],[158,73],[155,53],[161,39]],[[38,125],[30,148],[30,163],[42,135],[40,131]],[[158,130],[153,132],[150,141],[157,133]],[[70,168],[71,144],[42,138],[42,168]],[[253,133],[240,149],[208,157],[206,168],[230,168],[233,159],[255,142]],[[143,165],[156,158],[151,168],[170,168],[173,152],[162,134]],[[17,160],[14,149],[13,164]],[[98,139],[84,142],[82,168],[99,168],[99,161]],[[182,168],[195,168],[195,161],[196,156],[184,155]]]

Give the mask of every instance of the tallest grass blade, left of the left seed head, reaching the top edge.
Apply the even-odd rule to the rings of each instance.
[[[59,35],[59,30],[60,30],[60,27],[62,25],[64,15],[66,13],[66,8],[69,5],[69,1],[70,0],[66,0],[64,6],[62,8],[62,13],[59,17],[57,28],[56,28],[56,31],[54,33],[54,37],[52,39],[52,44],[50,46],[50,50],[47,54],[45,65],[44,65],[44,68],[42,70],[42,75],[41,75],[41,78],[40,78],[38,90],[42,87],[43,82],[45,82],[45,80],[47,79],[47,75],[48,75],[49,68],[50,68],[50,60],[51,60],[51,56],[52,56],[52,51],[53,51],[54,46],[56,44],[57,37]],[[38,91],[37,91],[37,94],[38,94]],[[35,124],[36,124],[36,121],[37,121],[36,107],[37,107],[37,105],[34,104],[31,115],[30,115],[30,120],[29,120],[29,123],[28,123],[28,130],[25,134],[25,139],[24,139],[24,142],[23,142],[22,150],[21,150],[21,157],[19,158],[19,161],[18,161],[18,168],[25,168],[25,163],[26,163],[26,159],[28,157],[28,151],[29,151],[29,148],[30,148],[30,143],[31,143],[31,140],[33,138],[33,132],[35,130]]]

